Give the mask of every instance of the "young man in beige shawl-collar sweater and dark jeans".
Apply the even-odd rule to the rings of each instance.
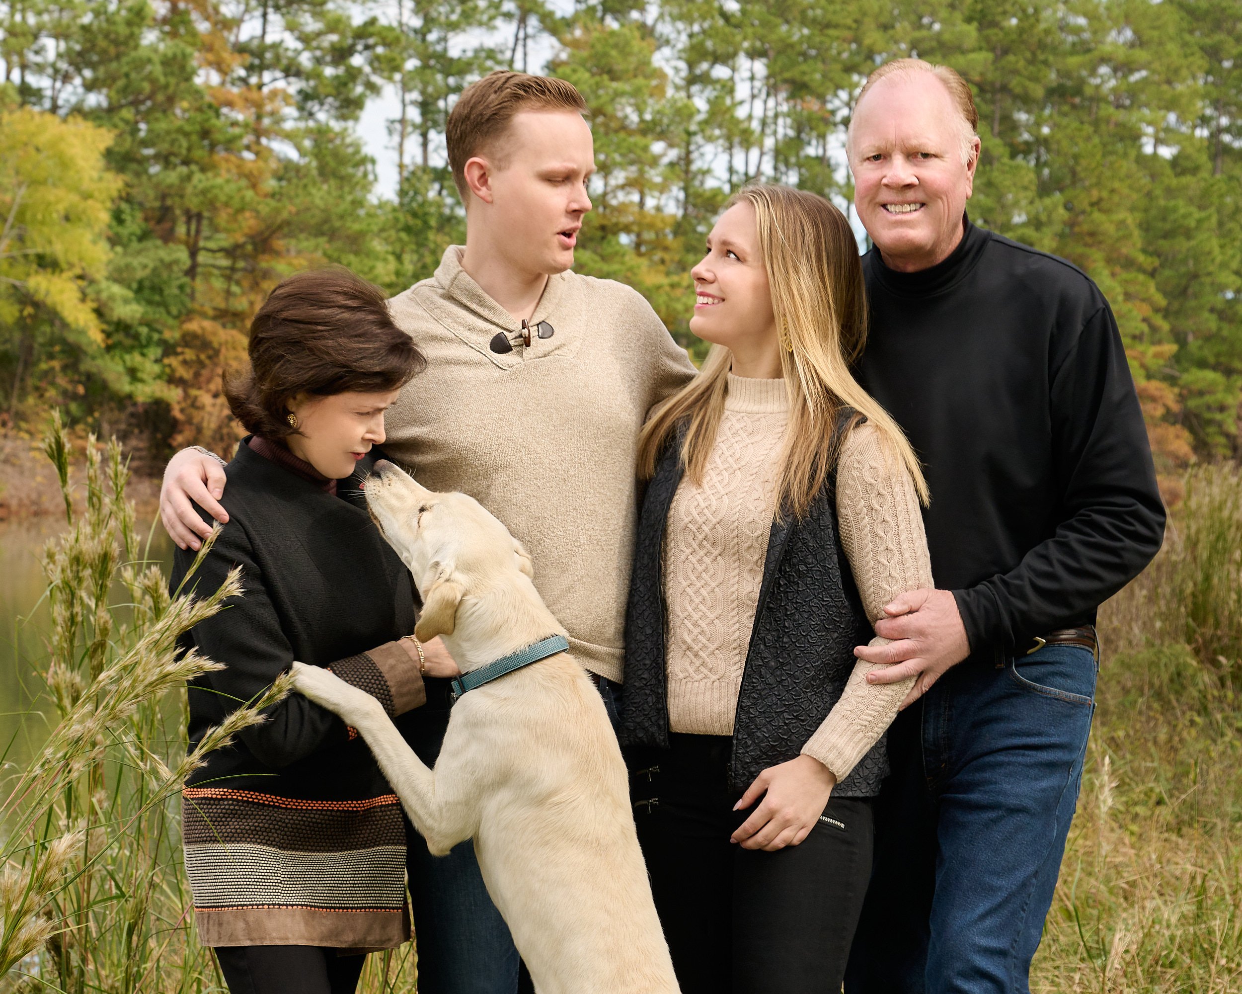
[[[462,93],[446,138],[466,245],[389,302],[427,369],[390,411],[384,445],[425,486],[476,497],[525,544],[535,585],[609,700],[621,678],[638,431],[694,368],[641,294],[570,271],[591,209],[585,109],[569,83],[524,73]],[[227,522],[224,485],[210,455],[174,456],[160,514],[179,545],[207,536],[191,501]],[[445,652],[438,640],[422,649]],[[414,746],[427,762],[440,748]],[[432,861],[412,836],[410,885],[420,990],[512,994],[517,952],[469,844]]]

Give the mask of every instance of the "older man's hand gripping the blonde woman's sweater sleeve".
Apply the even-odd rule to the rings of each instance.
[[[907,708],[927,693],[951,666],[970,655],[970,641],[958,613],[958,601],[948,590],[909,590],[884,606],[887,618],[876,624],[876,634],[888,645],[854,649],[854,656],[887,668],[867,673],[868,683],[899,683],[915,677],[902,701]]]

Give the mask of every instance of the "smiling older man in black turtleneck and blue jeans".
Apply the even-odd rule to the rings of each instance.
[[[889,733],[848,994],[1027,994],[1094,709],[1095,609],[1164,508],[1122,339],[1079,270],[970,224],[979,138],[953,70],[891,62],[848,137],[872,332],[863,383],[927,467],[938,589],[856,650],[917,675]]]

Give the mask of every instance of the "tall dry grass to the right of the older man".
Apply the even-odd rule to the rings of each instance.
[[[1104,606],[1078,816],[1036,992],[1242,992],[1242,475],[1186,480]]]

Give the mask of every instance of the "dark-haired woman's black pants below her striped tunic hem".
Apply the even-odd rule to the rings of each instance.
[[[354,994],[366,955],[322,946],[217,946],[230,994]]]

